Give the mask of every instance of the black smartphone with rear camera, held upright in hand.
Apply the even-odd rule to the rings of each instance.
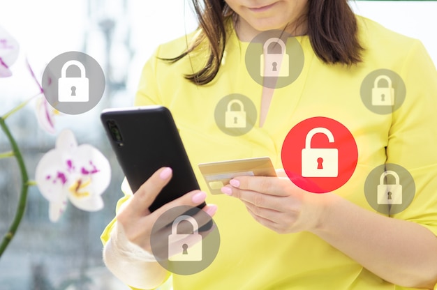
[[[169,109],[162,106],[105,109],[101,121],[133,192],[160,167],[172,168],[172,179],[149,211],[200,189]],[[204,202],[198,208],[205,205]]]

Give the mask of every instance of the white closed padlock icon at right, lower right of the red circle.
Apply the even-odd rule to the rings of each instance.
[[[394,184],[384,184],[387,175],[394,176]],[[378,204],[402,204],[402,185],[395,171],[387,170],[381,174],[378,185]]]

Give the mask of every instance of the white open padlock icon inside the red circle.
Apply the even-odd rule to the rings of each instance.
[[[334,135],[327,128],[311,129],[305,138],[302,149],[303,177],[337,177],[339,175],[339,150],[336,148],[311,148],[313,136],[322,133],[329,143],[334,143]]]

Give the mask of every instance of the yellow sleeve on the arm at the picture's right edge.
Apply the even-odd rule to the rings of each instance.
[[[420,41],[410,49],[400,75],[406,98],[392,115],[387,163],[410,172],[415,197],[395,217],[422,224],[437,236],[437,70]]]

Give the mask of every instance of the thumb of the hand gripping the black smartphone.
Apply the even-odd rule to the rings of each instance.
[[[154,202],[156,196],[172,178],[170,167],[161,167],[152,174],[145,183],[133,194],[131,208],[133,213],[145,213]]]

